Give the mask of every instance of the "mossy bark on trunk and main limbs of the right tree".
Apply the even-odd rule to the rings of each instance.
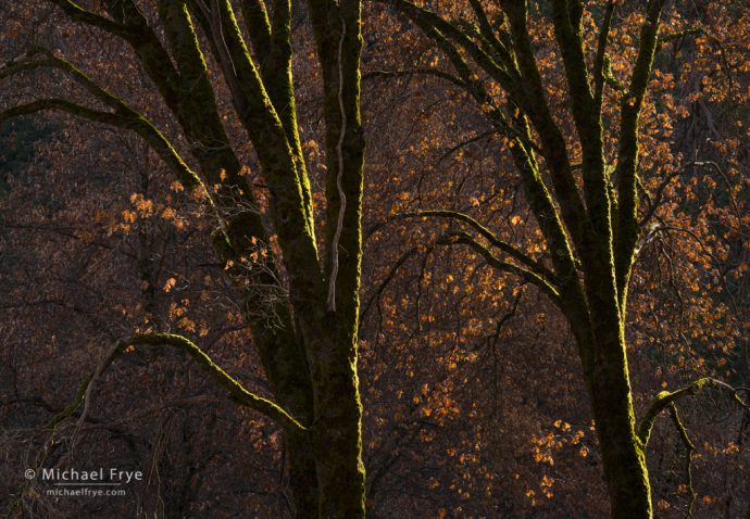
[[[532,213],[547,242],[552,265],[522,262],[521,251],[493,243],[491,231],[478,224],[471,230],[489,241],[482,245],[470,233],[453,243],[472,246],[492,267],[511,271],[548,294],[567,319],[576,339],[609,490],[612,517],[652,517],[643,442],[636,430],[625,343],[626,293],[635,257],[638,228],[638,116],[658,48],[663,0],[646,5],[640,48],[627,96],[621,105],[616,187],[608,177],[601,126],[603,66],[615,2],[609,2],[596,49],[595,71],[588,69],[583,43],[583,2],[554,0],[551,21],[565,72],[577,143],[583,152],[583,188],[573,175],[570,152],[551,114],[546,86],[528,30],[527,2],[501,2],[502,23],[489,23],[482,2],[471,0],[478,27],[453,23],[408,0],[379,0],[408,16],[448,56],[458,75],[453,81],[473,98],[495,129],[511,142]],[[471,60],[471,62],[470,62]],[[472,63],[473,62],[473,63]],[[496,104],[477,79],[478,68],[507,93]],[[538,141],[538,144],[536,143]],[[535,154],[540,153],[543,166]],[[547,176],[542,175],[542,167]],[[547,187],[549,178],[551,189]],[[445,211],[426,212],[445,217]],[[459,218],[461,219],[461,218]],[[488,233],[490,238],[488,238]],[[500,257],[496,252],[501,253]]]

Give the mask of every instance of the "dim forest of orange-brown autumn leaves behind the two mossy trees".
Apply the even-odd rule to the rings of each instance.
[[[49,49],[148,116],[177,153],[190,156],[184,123],[176,123],[132,47],[68,16],[60,3],[3,2],[0,62],[17,62],[34,46]],[[76,2],[116,20],[108,3],[130,2]],[[164,39],[159,2],[135,3]],[[241,11],[242,2],[228,3]],[[468,26],[480,23],[472,2],[416,3],[446,20],[471,21],[457,22],[466,34],[478,30]],[[501,12],[501,2],[482,3],[490,17]],[[553,2],[526,3],[550,110],[571,162],[579,163]],[[583,37],[593,52],[605,2],[583,3]],[[617,149],[616,84],[627,84],[632,73],[647,2],[614,3],[621,4],[602,105],[610,155]],[[648,443],[648,471],[655,517],[745,518],[750,9],[741,0],[665,4],[661,30],[671,37],[659,43],[640,109],[643,228],[624,329],[633,407],[640,417],[660,392],[704,377],[732,388],[701,388],[680,398],[683,429],[665,412]],[[335,139],[326,143],[322,47],[316,51],[308,3],[293,1],[289,12],[293,110],[314,235],[324,242],[334,221],[325,215]],[[354,340],[367,517],[607,517],[600,440],[576,339],[560,309],[534,283],[446,240],[465,230],[465,221],[404,217],[433,210],[471,215],[550,264],[555,252],[529,208],[512,136],[498,130],[491,109],[457,79],[461,71],[446,47],[390,2],[363,2],[361,20],[365,159]],[[243,33],[246,23],[239,23]],[[221,49],[209,51],[210,37],[196,30],[216,113],[254,191],[252,211],[270,221],[276,192],[263,175],[260,147],[233,109]],[[490,98],[509,96],[482,68],[472,74]],[[59,68],[0,72],[0,111],[40,98],[91,104],[90,93]],[[191,167],[198,161],[186,160]],[[0,117],[0,509],[9,517],[295,512],[284,428],[227,398],[178,350],[128,346],[96,379],[84,415],[80,406],[52,432],[46,426],[112,345],[133,333],[185,336],[248,391],[279,400],[250,324],[273,329],[282,317],[254,315],[238,296],[235,265],[212,242],[214,226],[199,197],[127,128],[59,111]],[[276,241],[272,232],[270,250],[280,246]],[[274,274],[280,295],[258,296],[286,298],[289,271]],[[123,497],[55,498],[23,477],[40,460],[145,476]]]

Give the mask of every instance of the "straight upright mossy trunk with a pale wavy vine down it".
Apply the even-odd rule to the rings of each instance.
[[[311,377],[320,517],[364,518],[362,405],[357,375],[364,139],[360,114],[361,2],[310,0],[326,122],[326,293],[314,314]],[[305,302],[307,306],[311,303]]]

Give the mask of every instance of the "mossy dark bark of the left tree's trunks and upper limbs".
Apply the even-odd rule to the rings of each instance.
[[[36,58],[7,64],[0,68],[0,79],[41,66],[62,68],[108,110],[92,110],[63,99],[42,99],[0,113],[0,121],[59,110],[134,130],[172,166],[185,187],[200,188],[205,193],[216,221],[212,236],[215,250],[228,265],[227,273],[237,288],[278,402],[280,414],[273,418],[283,423],[285,417],[293,417],[301,426],[285,427],[292,511],[305,518],[363,517],[362,410],[357,376],[364,161],[359,109],[360,1],[309,2],[324,73],[325,143],[330,166],[326,193],[328,227],[335,220],[339,228],[336,239],[330,233],[326,237],[322,251],[315,241],[310,181],[297,123],[288,0],[241,2],[258,63],[239,29],[233,3],[227,0],[159,0],[158,23],[166,46],[133,0],[103,2],[109,17],[86,11],[71,0],[50,2],[74,21],[98,27],[132,47],[190,143],[199,170],[187,165],[147,117],[51,53],[37,52],[40,55]],[[220,65],[238,118],[257,151],[261,175],[272,193],[272,229],[266,228],[255,210],[253,189],[224,130],[199,29]],[[204,185],[218,189],[210,192]],[[278,238],[278,256],[270,246],[272,233]],[[259,256],[259,246],[264,249],[260,268],[241,268],[245,257]],[[323,266],[320,262],[324,252],[330,257],[332,250],[338,258],[335,274],[327,260]],[[288,278],[287,287],[279,284],[280,264]],[[326,308],[328,286],[335,288],[335,309]],[[259,296],[263,287],[278,289],[278,294],[288,289],[288,296]]]

